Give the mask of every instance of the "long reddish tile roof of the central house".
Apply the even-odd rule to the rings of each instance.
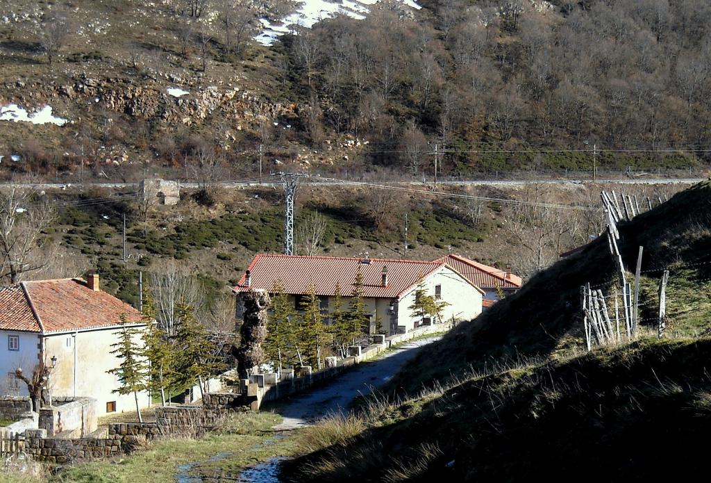
[[[306,294],[311,282],[317,295],[333,295],[336,282],[344,297],[351,295],[358,269],[363,274],[363,296],[394,299],[417,285],[419,277],[443,267],[444,262],[420,262],[387,258],[365,259],[345,257],[305,257],[297,255],[259,254],[247,267],[252,277],[249,287],[246,274],[234,288],[246,292],[250,288],[272,290],[274,282],[284,285],[287,294]],[[382,285],[383,267],[387,267],[387,287]]]

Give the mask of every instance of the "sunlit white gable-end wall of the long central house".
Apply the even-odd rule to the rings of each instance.
[[[459,320],[471,320],[481,314],[483,295],[451,268],[441,267],[424,279],[427,294],[434,296],[436,285],[442,286],[442,300],[449,302],[449,306],[442,311],[442,322],[451,320],[452,316]],[[412,287],[397,304],[397,324],[404,326],[406,331],[415,329],[415,324],[419,322],[413,316],[412,309],[408,308],[415,302],[415,290],[417,287]]]

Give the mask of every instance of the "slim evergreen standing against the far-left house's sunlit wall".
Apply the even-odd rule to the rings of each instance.
[[[114,389],[112,393],[119,394],[134,394],[134,399],[136,400],[136,413],[138,415],[138,420],[143,423],[143,418],[141,418],[141,410],[138,404],[138,393],[146,388],[146,379],[148,377],[148,368],[144,360],[139,344],[137,344],[137,339],[139,337],[139,329],[136,327],[129,327],[129,320],[127,314],[124,312],[120,316],[121,319],[121,335],[119,341],[115,344],[111,344],[114,350],[111,354],[114,354],[121,362],[117,368],[113,368],[107,371],[109,374],[114,374],[121,386]]]

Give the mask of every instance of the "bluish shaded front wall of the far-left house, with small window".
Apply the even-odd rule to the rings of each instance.
[[[9,336],[19,337],[19,350],[9,350]],[[31,332],[14,332],[0,330],[0,395],[27,396],[27,386],[22,381],[10,377],[15,369],[20,367],[29,375],[37,364],[39,337]]]

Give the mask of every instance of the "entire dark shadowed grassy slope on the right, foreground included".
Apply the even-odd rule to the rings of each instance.
[[[626,265],[638,245],[646,253],[636,341],[583,352],[579,286],[614,283],[606,241],[595,240],[422,352],[357,415],[311,430],[287,481],[629,481],[700,471],[697,440],[711,428],[710,205],[703,183],[620,226]],[[665,267],[670,329],[659,340],[652,319]]]

